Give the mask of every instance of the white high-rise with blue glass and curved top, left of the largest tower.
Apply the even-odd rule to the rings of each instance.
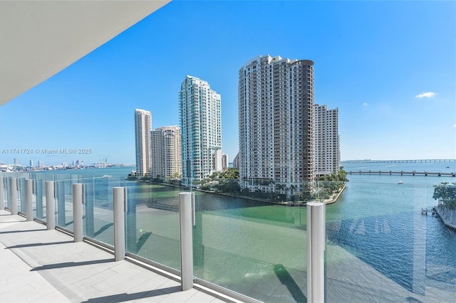
[[[180,86],[179,119],[182,133],[182,179],[212,174],[212,154],[221,156],[222,100],[207,81],[187,75]],[[220,160],[221,162],[221,160]]]

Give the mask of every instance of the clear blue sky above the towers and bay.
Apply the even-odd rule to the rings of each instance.
[[[314,102],[338,107],[343,160],[456,158],[455,1],[172,1],[2,105],[0,162],[133,164],[134,109],[153,129],[179,124],[185,75],[222,95],[232,161],[237,73],[267,54],[314,60]]]

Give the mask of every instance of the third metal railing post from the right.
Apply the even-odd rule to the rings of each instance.
[[[125,211],[127,204],[127,188],[114,187],[114,260],[125,259]]]

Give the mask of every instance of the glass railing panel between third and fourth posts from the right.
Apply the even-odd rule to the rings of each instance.
[[[124,186],[119,177],[83,180],[84,230],[88,238],[114,245],[113,187]]]

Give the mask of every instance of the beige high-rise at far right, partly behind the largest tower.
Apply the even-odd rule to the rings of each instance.
[[[341,166],[338,108],[314,105],[314,168],[316,176],[337,174]]]

